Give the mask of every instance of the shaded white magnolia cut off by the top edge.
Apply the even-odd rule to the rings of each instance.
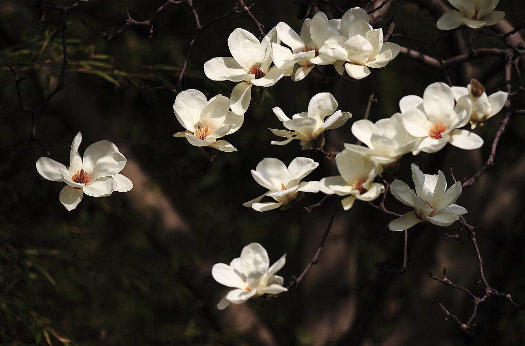
[[[496,8],[499,0],[448,0],[450,5],[457,8],[446,12],[437,20],[437,28],[440,30],[455,29],[461,24],[478,29],[498,23],[505,12],[492,11]]]

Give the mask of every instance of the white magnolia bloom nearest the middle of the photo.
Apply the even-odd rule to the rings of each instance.
[[[269,191],[243,205],[258,212],[266,212],[280,206],[282,210],[289,207],[291,201],[296,200],[299,192],[319,192],[319,182],[301,182],[301,179],[317,166],[319,163],[308,158],[295,158],[288,167],[274,158],[263,159],[255,170],[251,170],[251,175]],[[272,197],[277,202],[260,203],[264,196]]]

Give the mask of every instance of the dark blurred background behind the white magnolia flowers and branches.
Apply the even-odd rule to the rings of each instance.
[[[391,41],[447,58],[468,51],[471,30],[444,34],[436,28],[440,16],[435,3],[408,1],[394,33],[422,43],[394,37]],[[317,250],[339,199],[328,198],[316,211],[302,209],[258,213],[242,204],[264,193],[250,170],[265,157],[288,164],[296,156],[320,163],[305,180],[335,175],[334,162],[298,143],[271,145],[277,138],[268,128],[281,128],[271,108],[290,115],[306,111],[318,92],[331,92],[342,111],[353,114],[344,127],[327,134],[327,151],[353,140],[353,121],[362,119],[372,90],[377,102],[370,119],[390,117],[406,95],[422,96],[430,83],[446,81],[435,70],[404,56],[360,81],[339,78],[323,83],[311,73],[301,82],[282,79],[268,88],[261,106],[255,95],[241,130],[226,140],[238,151],[220,153],[208,162],[199,150],[173,138],[182,127],[172,105],[176,91],[152,90],[176,83],[188,45],[195,35],[193,15],[185,5],[167,5],[149,27],[130,26],[110,41],[100,32],[117,31],[127,19],[148,19],[163,1],[79,2],[67,13],[69,65],[66,87],[54,96],[37,118],[20,107],[15,78],[20,78],[23,106],[43,104],[57,84],[62,61],[60,14],[48,9],[48,21],[36,1],[0,3],[0,343],[5,345],[519,345],[525,340],[525,311],[491,298],[479,306],[468,333],[440,310],[466,321],[472,301],[464,292],[439,284],[444,267],[456,284],[483,295],[478,263],[466,234],[461,245],[447,228],[418,224],[409,230],[408,270],[403,275],[378,271],[374,263],[390,259],[396,269],[403,257],[401,233],[388,229],[392,217],[366,203],[339,211],[319,263],[299,287],[275,299],[250,300],[224,311],[215,307],[227,292],[211,278],[214,263],[229,263],[251,243],[262,244],[273,263],[287,254],[279,272],[290,282]],[[73,1],[48,1],[66,6]],[[298,28],[308,7],[299,1],[254,0],[252,13],[266,32],[278,22]],[[343,11],[355,6],[379,5],[365,1],[333,1]],[[33,5],[37,6],[33,6]],[[251,4],[251,3],[250,3]],[[371,16],[374,27],[385,28],[398,2]],[[31,7],[33,6],[33,7]],[[201,24],[228,14],[234,1],[199,1],[193,6]],[[324,2],[329,18],[341,12]],[[525,19],[522,0],[501,2],[511,25]],[[312,12],[313,13],[313,12]],[[226,40],[237,27],[257,35],[245,14],[231,14],[198,35],[190,52],[182,89],[195,88],[209,97],[229,96],[235,83],[215,82],[204,76],[205,61],[230,56]],[[491,32],[490,29],[483,29]],[[523,35],[521,29],[519,34]],[[435,44],[432,44],[434,43]],[[428,45],[432,44],[432,45]],[[477,34],[475,47],[506,46],[496,37]],[[485,57],[447,69],[454,85],[477,78],[487,93],[505,88],[504,61]],[[523,62],[518,64],[523,71]],[[331,66],[322,71],[335,76]],[[516,90],[520,78],[513,72]],[[375,88],[375,89],[374,89]],[[511,98],[513,109],[525,108],[524,93]],[[439,153],[407,154],[388,181],[412,185],[410,164],[423,172],[443,170],[452,183],[472,176],[485,162],[503,114],[476,132],[484,146],[467,152],[453,146]],[[40,177],[35,163],[43,148],[29,141],[33,121],[36,135],[56,161],[67,164],[72,139],[81,131],[82,153],[93,142],[108,139],[128,159],[122,173],[134,182],[128,193],[105,198],[83,198],[68,212],[58,201],[61,184]],[[510,289],[518,303],[525,300],[525,123],[510,120],[498,146],[495,165],[464,190],[458,204],[467,208],[467,221],[476,231],[489,284]],[[11,149],[9,149],[11,148]],[[24,150],[13,150],[24,149]],[[308,194],[302,206],[323,195]],[[405,213],[407,207],[387,196],[387,208]]]

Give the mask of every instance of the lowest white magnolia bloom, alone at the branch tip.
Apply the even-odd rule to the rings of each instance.
[[[285,265],[286,254],[271,267],[268,253],[258,243],[251,243],[243,248],[240,257],[234,258],[230,265],[217,263],[212,268],[212,276],[224,286],[235,289],[219,301],[217,308],[225,309],[230,303],[244,303],[251,297],[266,293],[277,294],[288,289],[282,287],[283,279],[274,275]]]

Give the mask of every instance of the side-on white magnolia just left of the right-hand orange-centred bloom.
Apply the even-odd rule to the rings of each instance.
[[[352,124],[352,133],[368,148],[344,144],[345,148],[359,152],[383,167],[395,165],[401,156],[415,150],[421,141],[405,130],[401,113],[380,119],[375,124],[368,119],[358,120]]]

